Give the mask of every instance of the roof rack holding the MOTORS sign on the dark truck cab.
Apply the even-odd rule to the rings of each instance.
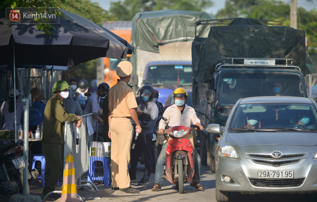
[[[241,66],[267,66],[295,68],[301,71],[298,66],[293,65],[293,59],[290,58],[241,58],[241,57],[225,57],[222,62],[217,64],[215,70],[219,70],[220,66],[241,67]]]

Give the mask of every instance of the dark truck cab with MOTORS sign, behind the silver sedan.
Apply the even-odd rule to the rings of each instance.
[[[308,98],[307,84],[293,59],[224,58],[219,63],[206,91],[209,116],[198,112],[204,124],[217,123],[224,128],[232,107],[240,98],[291,96]],[[205,96],[206,98],[206,96]],[[201,109],[197,109],[200,111]],[[203,118],[205,117],[205,118]],[[206,117],[208,117],[206,119]],[[219,135],[208,135],[207,158],[214,171],[214,150]]]

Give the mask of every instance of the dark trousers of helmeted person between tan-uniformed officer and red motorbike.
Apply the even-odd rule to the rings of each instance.
[[[133,136],[134,139],[135,135]],[[144,176],[146,180],[149,180],[149,177],[151,175],[151,170],[152,170],[152,138],[153,138],[153,133],[145,134],[145,135],[139,135],[137,139],[137,143],[135,145],[135,148],[132,150],[131,149],[131,165],[129,169],[129,175],[130,179],[134,180],[136,179],[136,171],[137,171],[137,165],[139,158],[142,155],[144,155],[144,165],[145,165],[145,170],[144,170]]]

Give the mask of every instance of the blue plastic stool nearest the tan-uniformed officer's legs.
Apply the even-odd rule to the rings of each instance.
[[[104,176],[95,176],[95,169],[97,161],[103,162]],[[105,186],[111,184],[110,180],[110,160],[109,157],[103,156],[90,156],[89,160],[89,172],[88,172],[88,181],[94,182],[94,180],[104,180]]]

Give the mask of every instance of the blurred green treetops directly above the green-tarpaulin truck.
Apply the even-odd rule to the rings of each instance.
[[[111,2],[109,14],[113,20],[132,20],[138,12],[150,10],[179,9],[202,11],[211,6],[211,0],[124,0]]]

